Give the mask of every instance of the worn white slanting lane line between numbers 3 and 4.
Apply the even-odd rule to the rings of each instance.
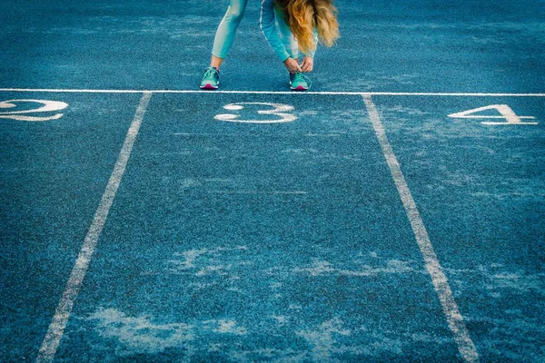
[[[384,126],[381,123],[381,117],[375,104],[372,102],[372,97],[370,95],[363,96],[363,101],[367,106],[367,112],[372,122],[372,127],[374,132],[379,139],[381,144],[381,149],[390,168],[391,176],[395,182],[395,186],[400,193],[401,201],[405,211],[407,211],[407,216],[411,222],[412,231],[414,232],[414,237],[418,242],[424,262],[426,264],[426,269],[431,276],[431,282],[433,287],[437,292],[437,295],[441,301],[441,306],[443,312],[449,323],[449,328],[451,329],[454,340],[458,345],[458,350],[461,354],[461,357],[467,362],[478,362],[479,353],[475,344],[471,340],[470,333],[463,322],[461,317],[460,309],[452,296],[451,286],[449,281],[445,276],[441,264],[433,250],[431,245],[430,237],[424,226],[424,222],[421,219],[420,212],[416,207],[416,203],[412,198],[411,191],[409,186],[405,181],[405,177],[401,172],[401,166],[398,162],[393,150],[391,149],[390,142],[386,136]]]

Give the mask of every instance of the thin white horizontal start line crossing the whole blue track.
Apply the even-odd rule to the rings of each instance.
[[[456,96],[456,97],[545,97],[545,93],[420,93],[420,92],[292,92],[292,91],[199,91],[199,90],[85,90],[45,88],[0,88],[0,92],[43,92],[43,93],[234,93],[234,94],[323,94],[323,95],[373,95],[373,96]]]

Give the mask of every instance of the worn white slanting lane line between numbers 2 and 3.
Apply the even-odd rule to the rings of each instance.
[[[98,238],[100,237],[100,234],[104,228],[104,223],[108,217],[108,212],[110,211],[112,203],[114,202],[115,193],[117,192],[121,179],[123,178],[127,162],[129,161],[129,157],[131,156],[131,152],[133,150],[134,140],[136,139],[136,135],[138,134],[140,125],[144,119],[144,113],[148,104],[150,103],[151,98],[152,93],[144,93],[140,103],[138,104],[136,113],[134,113],[133,123],[131,123],[131,126],[129,127],[124,140],[123,148],[121,149],[121,152],[119,152],[117,162],[115,162],[114,171],[110,176],[110,180],[108,181],[108,185],[106,186],[100,201],[100,205],[94,213],[94,219],[89,231],[87,232],[87,235],[85,236],[82,250],[80,250],[77,260],[75,261],[74,269],[70,274],[70,279],[64,288],[63,297],[61,298],[59,305],[54,312],[53,319],[51,320],[47,333],[45,334],[42,347],[40,348],[38,356],[36,357],[36,362],[38,363],[53,361],[61,338],[63,338],[64,328],[66,327],[66,323],[70,318],[72,308],[74,307],[74,301],[77,298],[80,288],[82,287],[85,274],[89,268],[89,263],[93,258],[94,248],[96,247]]]

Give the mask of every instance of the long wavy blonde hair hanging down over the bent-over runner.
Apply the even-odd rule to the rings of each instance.
[[[337,8],[333,0],[275,0],[304,54],[314,52],[314,29],[320,43],[330,47],[339,38]]]

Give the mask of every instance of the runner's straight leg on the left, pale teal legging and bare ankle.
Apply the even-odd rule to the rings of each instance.
[[[223,16],[222,23],[218,26],[215,34],[210,66],[219,69],[222,65],[223,58],[233,45],[236,28],[243,20],[247,3],[248,0],[230,0],[227,13]]]

